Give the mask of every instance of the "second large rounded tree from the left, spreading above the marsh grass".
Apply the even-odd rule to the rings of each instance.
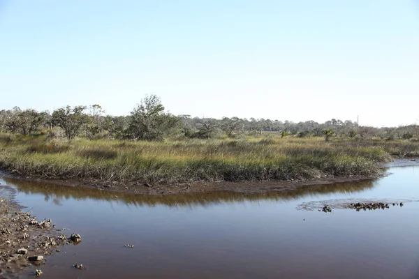
[[[52,112],[52,123],[64,129],[68,140],[73,140],[80,134],[82,126],[89,121],[89,116],[84,114],[85,106],[66,106]]]

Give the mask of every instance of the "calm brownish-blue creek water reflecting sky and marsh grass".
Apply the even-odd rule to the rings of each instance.
[[[17,202],[38,219],[82,235],[78,246],[47,257],[42,278],[419,278],[419,167],[388,171],[376,181],[272,195],[114,198],[100,190],[0,183],[13,186]],[[357,200],[404,206],[316,208]],[[86,270],[74,269],[75,262]],[[33,278],[34,270],[18,276]]]

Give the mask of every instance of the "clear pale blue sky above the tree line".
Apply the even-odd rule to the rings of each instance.
[[[419,124],[419,0],[0,0],[0,110]]]

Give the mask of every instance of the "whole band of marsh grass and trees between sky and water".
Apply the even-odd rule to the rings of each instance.
[[[374,175],[392,155],[418,155],[416,125],[191,118],[154,95],[128,116],[103,114],[100,105],[1,110],[0,168],[107,183],[270,181]]]

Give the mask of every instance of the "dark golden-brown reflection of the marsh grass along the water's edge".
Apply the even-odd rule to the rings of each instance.
[[[97,199],[121,202],[128,206],[207,206],[223,202],[252,202],[258,200],[286,201],[314,195],[333,193],[360,193],[374,188],[374,180],[330,183],[311,186],[300,186],[272,193],[237,193],[231,191],[214,191],[210,193],[182,193],[174,195],[135,195],[131,193],[115,193],[91,188],[59,186],[40,181],[24,181],[20,179],[3,178],[10,186],[27,195],[41,194],[45,202],[52,201],[60,205],[63,199]],[[115,197],[117,195],[117,197]]]

